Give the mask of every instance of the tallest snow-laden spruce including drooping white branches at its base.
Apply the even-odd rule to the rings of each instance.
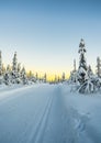
[[[91,78],[91,67],[87,66],[87,61],[85,57],[87,50],[85,45],[85,41],[81,38],[79,44],[79,51],[80,54],[79,58],[79,68],[78,68],[78,80],[80,82],[79,92],[81,94],[89,94],[94,91],[94,82]]]

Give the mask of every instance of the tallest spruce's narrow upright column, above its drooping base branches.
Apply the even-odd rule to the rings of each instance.
[[[81,38],[80,44],[79,44],[79,51],[78,51],[78,53],[80,54],[79,68],[78,68],[78,80],[81,85],[88,78],[88,75],[87,75],[88,67],[87,67],[87,62],[86,62],[86,58],[85,58],[86,52],[87,51],[85,48],[85,41]]]

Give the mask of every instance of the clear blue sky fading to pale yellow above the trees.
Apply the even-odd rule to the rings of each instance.
[[[0,50],[4,65],[14,52],[26,70],[68,76],[79,63],[83,38],[87,64],[101,57],[100,0],[0,0]]]

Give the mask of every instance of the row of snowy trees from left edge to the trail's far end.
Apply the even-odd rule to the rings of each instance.
[[[25,67],[22,67],[20,63],[18,63],[16,52],[12,58],[12,65],[3,66],[2,63],[2,53],[0,51],[0,85],[12,85],[12,84],[33,84],[33,82],[49,82],[49,84],[58,84],[66,80],[65,73],[63,73],[61,77],[56,76],[54,80],[48,81],[46,73],[41,77],[37,73],[33,74],[32,70],[26,73]]]

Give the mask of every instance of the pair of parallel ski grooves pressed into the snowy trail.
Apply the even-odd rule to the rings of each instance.
[[[40,118],[40,120],[36,122],[36,127],[33,127],[34,132],[31,132],[30,139],[27,141],[27,143],[38,143],[42,142],[43,143],[43,138],[44,138],[44,132],[45,132],[45,128],[47,125],[47,121],[48,121],[48,116],[49,116],[49,111],[52,108],[52,103],[53,103],[53,98],[54,95],[49,96],[48,101],[44,108],[44,111]]]

